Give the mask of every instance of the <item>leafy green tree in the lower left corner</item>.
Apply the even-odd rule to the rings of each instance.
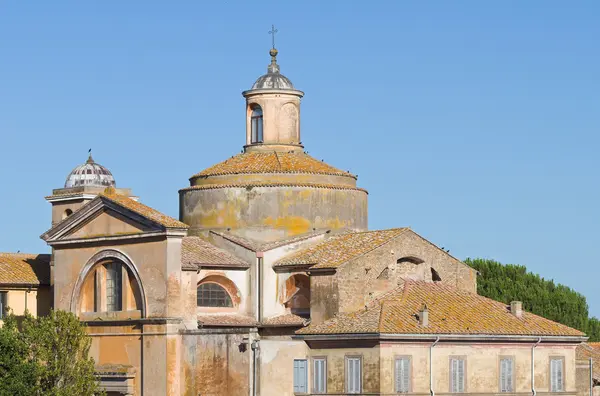
[[[91,340],[75,315],[52,311],[20,324],[12,315],[0,329],[0,395],[101,394],[88,356]]]

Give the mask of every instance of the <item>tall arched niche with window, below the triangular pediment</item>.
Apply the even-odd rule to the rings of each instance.
[[[115,249],[94,254],[81,270],[73,295],[71,312],[78,316],[146,317],[146,295],[133,261]]]

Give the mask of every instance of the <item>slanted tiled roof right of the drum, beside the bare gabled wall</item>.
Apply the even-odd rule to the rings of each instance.
[[[318,245],[282,258],[274,264],[274,267],[313,265],[311,268],[337,268],[389,242],[406,230],[408,228],[392,228],[333,235]]]

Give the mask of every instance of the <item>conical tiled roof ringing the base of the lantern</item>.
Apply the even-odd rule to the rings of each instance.
[[[302,152],[269,151],[235,155],[191,178],[244,173],[318,173],[356,177]]]

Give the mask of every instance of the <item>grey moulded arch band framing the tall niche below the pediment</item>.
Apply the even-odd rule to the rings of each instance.
[[[142,280],[140,278],[139,271],[133,261],[123,252],[120,252],[115,249],[105,249],[90,257],[79,273],[79,277],[77,278],[77,282],[75,283],[75,288],[73,289],[73,294],[71,295],[71,306],[70,310],[74,314],[78,314],[79,304],[80,304],[80,294],[81,287],[83,286],[85,280],[87,279],[90,271],[96,267],[97,264],[100,264],[107,259],[115,259],[120,261],[133,275],[133,278],[138,284],[139,292],[140,292],[140,300],[142,305],[142,318],[146,317],[146,292],[144,291],[144,285],[142,284]]]

